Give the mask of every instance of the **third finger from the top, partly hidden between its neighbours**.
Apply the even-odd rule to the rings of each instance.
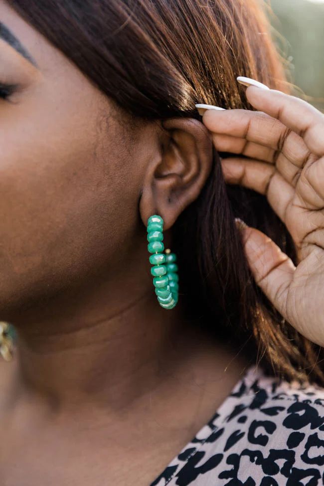
[[[253,142],[247,142],[245,139],[231,137],[230,135],[213,134],[212,140],[218,152],[241,154],[249,159],[259,160],[262,162],[272,163],[274,153],[276,152],[273,149],[269,149],[269,147],[264,147]],[[276,169],[279,173],[281,173],[284,179],[287,180],[287,182],[289,182],[293,187],[296,187],[302,169],[290,162],[282,152],[277,152],[277,154]],[[242,158],[242,160],[244,159]]]

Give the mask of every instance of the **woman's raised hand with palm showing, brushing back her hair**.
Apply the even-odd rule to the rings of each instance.
[[[251,85],[246,97],[260,111],[211,109],[202,122],[217,151],[238,154],[221,160],[225,181],[264,194],[295,242],[297,267],[264,233],[241,226],[256,283],[290,324],[324,346],[324,115],[278,90]]]

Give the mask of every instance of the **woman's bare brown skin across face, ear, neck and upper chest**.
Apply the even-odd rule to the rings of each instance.
[[[19,85],[0,100],[0,318],[19,336],[0,365],[1,482],[146,485],[248,364],[184,319],[181,291],[160,307],[148,262],[148,217],[172,248],[212,139],[194,119],[128,125],[1,0],[0,20],[38,66],[0,41],[0,80]]]

